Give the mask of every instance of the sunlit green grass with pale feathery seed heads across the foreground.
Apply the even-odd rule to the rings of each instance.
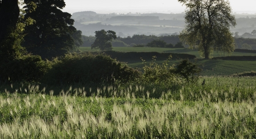
[[[70,87],[58,96],[37,85],[14,93],[6,89],[0,95],[0,137],[256,138],[255,78],[203,79],[204,86],[176,92],[105,86],[88,92],[90,97],[85,88]],[[162,97],[153,98],[155,93]]]

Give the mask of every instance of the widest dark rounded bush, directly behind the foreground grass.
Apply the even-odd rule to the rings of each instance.
[[[45,82],[50,84],[112,84],[127,82],[139,76],[124,63],[104,54],[68,54],[56,59]]]

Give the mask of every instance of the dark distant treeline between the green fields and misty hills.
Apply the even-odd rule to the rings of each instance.
[[[234,38],[235,39],[235,48],[236,49],[250,49],[256,50],[256,39],[253,38]],[[82,47],[90,47],[94,42],[94,36],[82,36]],[[112,42],[113,47],[126,47],[126,46],[134,46],[134,45],[147,45],[147,43],[152,42],[153,40],[161,40],[166,42],[167,44],[176,45],[180,42],[179,35],[133,35],[128,36],[126,38],[117,37],[115,41]],[[243,45],[249,45],[249,48],[243,47]]]

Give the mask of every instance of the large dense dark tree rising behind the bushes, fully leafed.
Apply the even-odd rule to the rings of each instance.
[[[71,14],[61,11],[65,7],[64,0],[25,2],[25,19],[32,18],[36,21],[25,28],[23,46],[29,52],[50,58],[68,53],[81,45],[81,31],[73,26]]]

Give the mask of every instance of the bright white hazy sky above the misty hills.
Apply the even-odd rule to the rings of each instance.
[[[184,7],[178,0],[65,0],[64,11],[96,11],[97,13],[182,13]],[[230,0],[233,12],[256,13],[256,0]]]

